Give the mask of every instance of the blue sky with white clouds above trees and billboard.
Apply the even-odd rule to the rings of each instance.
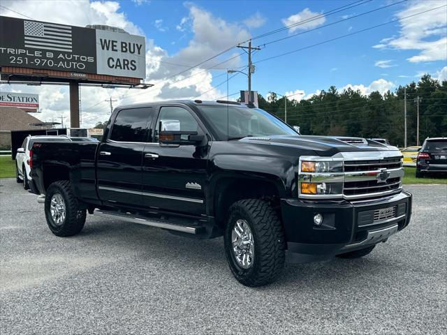
[[[382,93],[388,89],[393,91],[400,84],[417,81],[423,73],[446,80],[446,7],[408,20],[403,17],[444,6],[447,1],[409,0],[398,3],[400,1],[364,0],[359,2],[359,6],[333,15],[324,13],[356,1],[3,0],[1,3],[2,6],[36,20],[79,26],[109,24],[146,37],[145,81],[154,83],[154,88],[130,95],[125,90],[118,89],[83,89],[83,96],[87,100],[84,104],[87,106],[85,123],[91,124],[106,116],[108,105],[101,104],[101,101],[110,96],[118,100],[118,103],[197,96],[204,100],[221,98],[226,95],[226,83],[221,84],[226,80],[226,68],[246,65],[247,55],[221,64],[219,69],[204,69],[233,57],[241,52],[240,49],[233,48],[199,68],[186,71],[181,76],[170,77],[187,69],[186,66],[196,65],[243,40],[316,15],[320,15],[318,20],[253,41],[254,45],[261,46],[261,50],[253,57],[256,73],[253,75],[252,89],[263,95],[268,91],[277,91],[279,94],[302,92],[303,97],[309,97],[318,93],[318,90],[328,89],[330,85],[335,85],[340,90],[353,87],[364,94],[374,90]],[[353,17],[383,6],[388,7]],[[4,8],[0,8],[0,13],[21,17]],[[345,19],[347,20],[344,22],[323,27]],[[397,22],[263,61],[391,20]],[[309,31],[310,29],[316,30]],[[300,36],[264,46],[269,41],[299,33]],[[221,85],[215,87],[217,84]],[[247,77],[236,75],[229,81],[228,87],[230,94],[246,89]],[[13,89],[29,91],[29,87],[16,86]],[[54,91],[54,88],[40,87],[34,90],[45,98],[45,118],[59,116],[61,110],[68,111],[66,88]]]

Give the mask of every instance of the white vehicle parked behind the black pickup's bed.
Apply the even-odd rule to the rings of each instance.
[[[31,179],[31,166],[29,165],[29,158],[31,157],[31,155],[29,151],[31,150],[31,147],[33,147],[33,144],[36,140],[38,140],[39,142],[68,142],[70,141],[70,138],[67,135],[28,135],[23,140],[22,147],[17,149],[17,154],[15,154],[15,180],[17,181],[17,183],[23,183],[23,188],[25,190],[29,188],[29,180]]]

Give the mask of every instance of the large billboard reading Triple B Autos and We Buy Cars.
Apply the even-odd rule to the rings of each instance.
[[[145,78],[145,38],[0,16],[0,66]]]

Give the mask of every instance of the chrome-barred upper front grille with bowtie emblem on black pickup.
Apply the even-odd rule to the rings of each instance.
[[[361,199],[393,194],[402,188],[404,175],[400,157],[345,161],[345,198]]]

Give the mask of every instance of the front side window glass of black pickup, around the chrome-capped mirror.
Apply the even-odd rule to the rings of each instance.
[[[199,131],[196,119],[188,110],[182,107],[161,107],[155,125],[155,142],[159,142],[160,121],[163,121],[167,131]]]

